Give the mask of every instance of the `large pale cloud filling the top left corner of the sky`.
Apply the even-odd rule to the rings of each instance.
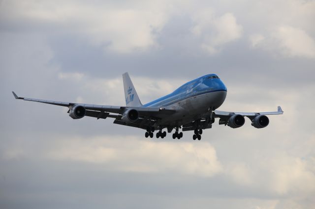
[[[156,34],[167,19],[167,8],[163,3],[139,2],[128,6],[110,2],[98,2],[95,6],[82,1],[1,3],[0,11],[7,21],[58,25],[54,33],[78,32],[88,37],[92,44],[121,53],[155,46]]]

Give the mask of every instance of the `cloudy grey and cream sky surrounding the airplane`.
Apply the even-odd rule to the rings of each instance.
[[[0,0],[1,209],[314,209],[314,0]],[[201,141],[67,107],[143,104],[215,73],[218,110],[275,111]]]

